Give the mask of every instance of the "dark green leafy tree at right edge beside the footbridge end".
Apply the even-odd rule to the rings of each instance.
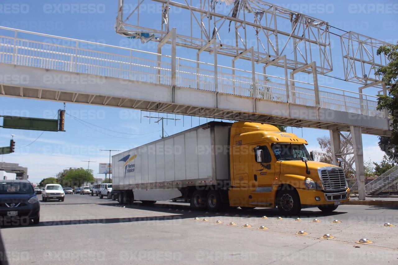
[[[378,96],[378,110],[387,109],[392,119],[391,137],[379,136],[378,145],[388,158],[398,163],[398,43],[384,45],[377,49],[377,55],[384,54],[390,61],[384,67],[378,67],[376,75],[386,86],[390,86],[388,95]]]

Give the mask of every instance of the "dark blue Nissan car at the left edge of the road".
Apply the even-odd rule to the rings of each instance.
[[[0,182],[0,222],[10,224],[38,224],[40,203],[32,184],[13,179]]]

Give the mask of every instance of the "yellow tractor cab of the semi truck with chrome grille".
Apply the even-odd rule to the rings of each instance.
[[[273,125],[234,123],[230,131],[230,206],[278,207],[284,214],[298,214],[307,207],[330,212],[349,201],[343,169],[313,161],[307,144]]]

